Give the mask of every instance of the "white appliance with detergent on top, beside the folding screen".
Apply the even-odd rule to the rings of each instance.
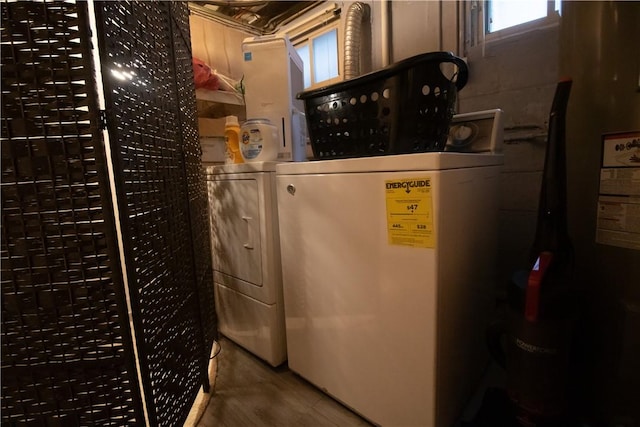
[[[219,330],[273,366],[287,358],[276,162],[206,168]]]

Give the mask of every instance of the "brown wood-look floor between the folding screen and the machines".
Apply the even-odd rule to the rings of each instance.
[[[198,427],[371,426],[289,370],[221,337],[217,377]]]

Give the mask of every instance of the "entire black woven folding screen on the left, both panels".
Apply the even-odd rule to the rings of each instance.
[[[2,424],[181,425],[216,338],[187,6],[95,3],[101,81],[86,2],[0,6]]]

